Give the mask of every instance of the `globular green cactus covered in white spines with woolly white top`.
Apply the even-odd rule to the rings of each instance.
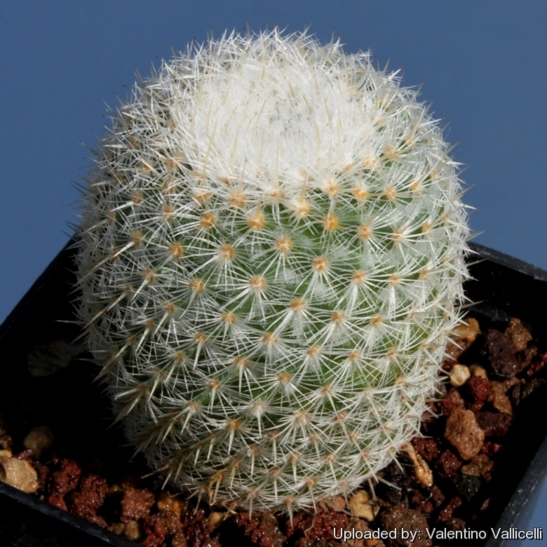
[[[457,164],[417,92],[339,43],[227,34],[112,117],[80,316],[130,442],[243,507],[373,478],[419,431],[467,277]]]

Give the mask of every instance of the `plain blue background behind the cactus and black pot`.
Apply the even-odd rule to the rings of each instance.
[[[475,241],[547,269],[547,2],[18,0],[0,6],[0,321],[71,233],[104,102],[172,46],[247,23],[340,34],[423,84],[460,142]]]

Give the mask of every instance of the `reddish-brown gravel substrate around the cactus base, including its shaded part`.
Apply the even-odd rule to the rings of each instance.
[[[447,350],[445,382],[424,417],[423,436],[377,481],[349,499],[321,501],[316,513],[296,513],[292,522],[288,515],[198,505],[144,477],[142,459],[127,464],[133,451],[120,447],[119,429],[109,427],[92,365],[77,359],[45,377],[28,375],[25,391],[2,398],[0,479],[147,547],[332,547],[352,530],[351,537],[364,539],[348,539],[351,547],[443,546],[450,540],[430,535],[495,525],[541,443],[547,427],[536,417],[546,349],[518,319],[503,325],[469,318]],[[396,538],[374,539],[394,529]]]

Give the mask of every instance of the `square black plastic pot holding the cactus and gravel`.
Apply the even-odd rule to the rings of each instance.
[[[474,279],[466,283],[466,294],[476,302],[473,313],[493,324],[518,317],[532,335],[547,335],[543,309],[547,271],[482,245],[471,247],[477,255],[471,259]],[[28,411],[28,418],[20,419],[26,431],[39,425],[33,422],[39,416],[41,423],[53,424],[58,438],[69,439],[80,452],[91,452],[93,447],[109,464],[123,466],[132,451],[123,447],[120,431],[109,427],[109,403],[93,382],[93,367],[80,362],[39,379],[28,372],[29,351],[41,348],[47,352],[52,342],[70,342],[79,335],[76,325],[62,322],[74,319],[73,257],[69,242],[1,325],[0,400],[15,411],[20,407]],[[547,439],[543,442],[547,420],[533,418],[547,415],[547,397],[533,399],[521,417],[512,443],[511,465],[493,501],[494,520],[489,523],[493,527],[508,529],[517,522],[519,515],[529,510],[527,501],[533,499],[534,486],[547,473]],[[142,469],[144,473],[144,463]],[[225,547],[234,544],[228,537],[222,541]],[[237,544],[241,545],[239,540]],[[492,537],[487,540],[487,547],[502,544]],[[105,545],[128,547],[135,543],[0,482],[0,547]]]

